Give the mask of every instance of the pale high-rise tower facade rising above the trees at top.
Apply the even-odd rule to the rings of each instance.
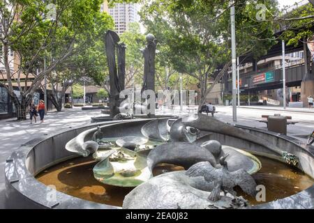
[[[107,12],[112,16],[115,24],[115,31],[118,34],[128,30],[128,24],[139,22],[138,10],[140,5],[137,3],[116,3],[113,8],[108,8],[107,1],[100,6],[100,11]]]

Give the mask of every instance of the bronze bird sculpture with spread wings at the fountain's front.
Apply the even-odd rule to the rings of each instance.
[[[221,166],[223,166],[222,168],[217,169],[211,166],[209,162],[197,162],[186,171],[186,175],[189,177],[204,176],[207,182],[214,184],[214,190],[211,191],[208,197],[210,201],[218,201],[220,199],[220,191],[223,191],[225,194],[230,192],[230,194],[236,196],[237,192],[233,190],[233,187],[237,185],[246,194],[254,197],[256,183],[253,177],[244,169],[229,171],[225,161],[226,157],[227,155],[220,157],[219,161]]]

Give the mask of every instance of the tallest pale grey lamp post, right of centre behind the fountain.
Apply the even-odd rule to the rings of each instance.
[[[234,1],[231,2],[232,7],[230,9],[231,20],[231,51],[232,51],[232,118],[233,121],[237,121],[237,59],[236,59],[236,41],[235,41],[235,22],[234,22]]]

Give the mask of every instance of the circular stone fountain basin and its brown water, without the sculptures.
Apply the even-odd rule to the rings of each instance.
[[[101,123],[101,128],[105,137],[140,137],[141,127],[149,121],[110,121]],[[13,152],[5,167],[8,208],[121,207],[121,201],[132,188],[100,183],[94,178],[92,171],[98,160],[91,156],[78,157],[64,149],[70,139],[81,132],[96,128],[97,125],[91,124],[33,139]],[[250,208],[314,208],[314,155],[310,148],[291,137],[240,125],[235,127],[285,148],[287,152],[299,157],[298,166],[291,167],[280,162],[281,157],[276,153],[252,141],[218,132],[210,132],[205,137],[204,140],[214,139],[225,146],[241,148],[261,161],[262,169],[253,174],[253,178],[257,184],[266,185],[269,197],[264,202],[251,201]],[[93,131],[89,132],[84,140],[90,140],[92,134]],[[182,170],[181,167],[158,164],[154,168],[155,175],[156,169],[161,173]],[[56,190],[52,190],[48,185],[55,185]],[[52,191],[55,192],[55,199],[47,199]],[[241,191],[238,193],[241,194]]]

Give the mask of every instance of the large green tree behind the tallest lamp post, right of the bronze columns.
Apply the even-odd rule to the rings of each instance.
[[[272,1],[260,2],[267,4],[267,16],[276,10]],[[235,5],[239,55],[253,52],[258,57],[276,43],[270,39],[271,23],[251,19],[257,13],[255,4],[237,1]],[[230,6],[229,1],[218,0],[156,0],[146,3],[140,13],[147,31],[158,40],[158,56],[177,72],[197,79],[201,104],[231,64]],[[214,84],[209,86],[209,80]]]

